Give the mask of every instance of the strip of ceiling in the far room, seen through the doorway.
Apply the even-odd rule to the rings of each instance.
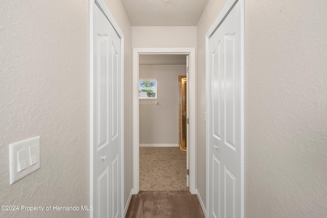
[[[186,65],[186,55],[139,55],[141,65]]]

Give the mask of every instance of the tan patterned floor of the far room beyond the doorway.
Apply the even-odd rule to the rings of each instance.
[[[178,147],[140,147],[139,190],[189,190],[186,186],[186,152]]]

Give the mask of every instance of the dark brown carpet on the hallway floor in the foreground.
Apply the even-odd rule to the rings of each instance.
[[[197,195],[189,191],[140,191],[133,195],[127,218],[202,218]]]

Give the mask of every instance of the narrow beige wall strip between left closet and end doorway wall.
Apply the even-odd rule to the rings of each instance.
[[[105,0],[124,33],[124,205],[132,189],[132,28],[120,0]]]

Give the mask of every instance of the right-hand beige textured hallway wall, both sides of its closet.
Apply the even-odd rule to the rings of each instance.
[[[205,200],[205,38],[197,26],[198,189]],[[245,217],[327,214],[327,2],[245,1]]]

